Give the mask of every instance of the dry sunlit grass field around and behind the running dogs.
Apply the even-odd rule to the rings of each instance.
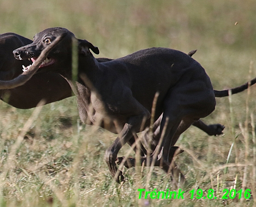
[[[153,46],[197,49],[193,57],[216,90],[256,76],[255,20],[255,0],[0,0],[0,33],[33,39],[64,27],[108,58]],[[141,188],[174,190],[158,167],[149,184],[146,167],[124,169],[126,182],[113,182],[104,153],[116,135],[81,124],[75,97],[27,110],[0,102],[0,207],[256,207],[255,97],[252,86],[216,99],[204,121],[225,125],[223,136],[195,127],[180,136],[176,145],[185,151],[176,162],[190,186],[184,199],[169,200],[138,199]],[[193,189],[205,197],[213,189],[216,199],[191,199]],[[223,189],[250,189],[251,196],[222,199]]]

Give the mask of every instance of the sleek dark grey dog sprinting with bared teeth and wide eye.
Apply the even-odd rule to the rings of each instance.
[[[35,61],[45,47],[63,34],[64,39],[49,53],[49,61],[42,64],[38,72],[56,72],[69,82],[77,96],[82,121],[100,122],[99,126],[118,133],[105,152],[105,161],[117,182],[124,180],[122,171],[116,167],[118,151],[125,143],[133,144],[136,133],[150,126],[150,111],[157,92],[153,121],[159,122],[160,131],[154,137],[153,153],[147,159],[151,164],[153,157],[158,155],[154,165],[166,172],[173,170],[169,166],[175,151],[180,151],[174,147],[180,134],[193,123],[200,123],[200,118],[215,109],[215,97],[228,96],[228,90],[213,90],[208,75],[197,61],[169,48],[140,50],[99,63],[92,54],[99,54],[98,47],[87,40],[76,39],[79,54],[76,83],[72,82],[71,74],[75,35],[67,29],[45,29],[35,35],[33,43],[13,51],[13,54],[17,59]],[[251,85],[255,82],[252,80]],[[231,91],[234,94],[247,87],[248,83]],[[141,163],[145,159],[142,157]]]

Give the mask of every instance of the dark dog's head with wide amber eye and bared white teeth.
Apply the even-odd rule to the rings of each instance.
[[[99,54],[98,47],[93,46],[87,40],[77,40],[75,35],[68,29],[56,27],[45,29],[36,34],[33,43],[13,51],[14,57],[19,60],[31,59],[34,63],[43,49],[60,35],[64,35],[63,40],[52,49],[48,57],[41,64],[38,72],[62,72],[70,70],[72,65],[72,42],[77,42],[78,54],[81,56],[92,55],[89,49]],[[23,68],[26,69],[25,66]]]

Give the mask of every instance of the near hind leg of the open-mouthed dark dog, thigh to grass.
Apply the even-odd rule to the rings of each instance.
[[[176,151],[172,146],[174,146],[180,134],[191,124],[198,121],[200,118],[209,115],[215,108],[215,97],[213,96],[213,93],[208,92],[207,90],[200,91],[198,90],[197,85],[192,86],[196,86],[196,89],[190,90],[189,92],[187,92],[184,87],[176,87],[169,92],[164,101],[164,113],[161,121],[160,134],[163,133],[163,128],[166,119],[168,118],[165,134],[162,135],[163,142],[161,146],[159,145],[160,143],[158,143],[160,153],[157,151],[159,148],[157,147],[149,158],[141,159],[141,163],[146,159],[150,159],[150,162],[152,162],[154,155],[157,155],[157,160],[155,161],[154,166],[162,167],[166,172],[171,172],[173,177],[176,176],[176,178],[180,172],[177,171],[175,173],[175,166],[171,165],[173,156],[175,155],[174,151]],[[129,158],[128,160],[130,163],[134,162],[134,159]]]

